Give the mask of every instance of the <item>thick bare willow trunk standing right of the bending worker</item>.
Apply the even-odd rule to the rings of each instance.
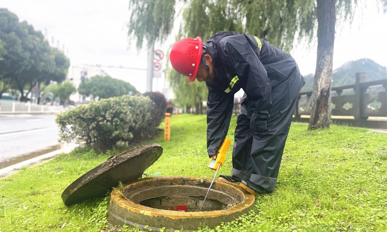
[[[330,125],[336,0],[317,0],[317,23],[317,63],[308,130],[329,128]]]

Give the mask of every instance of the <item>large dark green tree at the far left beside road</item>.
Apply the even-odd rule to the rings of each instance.
[[[19,22],[7,9],[0,9],[0,40],[6,50],[0,59],[2,87],[19,90],[22,101],[34,87],[65,79],[68,58],[50,48],[40,31],[26,21]]]

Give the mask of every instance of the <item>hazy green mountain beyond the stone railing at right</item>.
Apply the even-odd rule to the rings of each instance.
[[[387,79],[386,67],[381,66],[380,64],[371,59],[360,59],[357,61],[346,62],[340,68],[335,69],[332,75],[332,87],[353,85],[356,80],[355,73],[366,73],[366,82]],[[301,89],[301,92],[312,91],[313,78],[314,75],[312,73],[304,76],[305,85]]]

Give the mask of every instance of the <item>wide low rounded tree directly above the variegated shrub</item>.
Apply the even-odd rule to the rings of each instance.
[[[109,98],[118,97],[125,94],[139,93],[130,83],[111,78],[110,76],[92,76],[86,79],[78,87],[78,92],[85,96]]]

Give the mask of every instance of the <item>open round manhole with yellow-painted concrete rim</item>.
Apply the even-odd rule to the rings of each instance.
[[[230,222],[254,207],[255,198],[239,185],[216,180],[201,212],[210,178],[153,177],[113,189],[108,221],[160,231],[197,230]],[[184,208],[187,211],[177,211]]]

